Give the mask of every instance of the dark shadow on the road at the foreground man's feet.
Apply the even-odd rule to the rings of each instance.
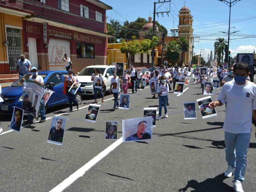
[[[187,191],[189,188],[192,188],[194,190],[189,190],[189,191],[193,191],[193,192],[203,192],[203,191],[207,191],[207,192],[234,192],[233,188],[230,187],[229,185],[227,185],[226,183],[223,183],[223,181],[226,179],[226,177],[224,176],[224,173],[221,173],[220,175],[217,175],[214,178],[208,178],[202,182],[198,182],[196,180],[190,180],[189,182],[187,182],[187,185],[182,188],[179,189],[179,191]]]

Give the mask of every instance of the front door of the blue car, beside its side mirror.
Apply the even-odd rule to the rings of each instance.
[[[54,86],[50,86],[50,83],[54,83]],[[65,101],[67,101],[66,95],[63,95],[63,80],[62,80],[62,74],[61,73],[54,73],[52,74],[45,83],[46,88],[54,91],[52,93],[49,101],[47,102],[48,106],[58,105]]]

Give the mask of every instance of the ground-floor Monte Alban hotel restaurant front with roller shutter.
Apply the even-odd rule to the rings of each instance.
[[[27,45],[27,58],[38,69],[65,70],[64,54],[71,58],[75,72],[88,65],[107,63],[107,37],[110,35],[70,25],[63,26],[56,22],[34,20],[37,22],[23,21],[23,30],[26,29],[23,36],[24,44]]]

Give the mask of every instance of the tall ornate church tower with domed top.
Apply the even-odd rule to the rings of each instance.
[[[187,52],[182,52],[182,57],[180,62],[184,62],[186,65],[189,65],[192,61],[192,41],[193,41],[193,16],[190,14],[188,7],[184,5],[179,11],[179,25],[178,25],[178,36],[185,37],[187,42],[189,42],[189,50]]]

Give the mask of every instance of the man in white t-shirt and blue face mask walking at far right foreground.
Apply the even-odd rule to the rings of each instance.
[[[252,116],[253,111],[256,112],[256,85],[246,79],[249,75],[247,63],[236,63],[233,73],[234,80],[223,85],[217,101],[211,102],[209,107],[222,106],[227,101],[223,125],[228,162],[225,176],[232,177],[234,173],[233,189],[241,192],[250,144]]]

